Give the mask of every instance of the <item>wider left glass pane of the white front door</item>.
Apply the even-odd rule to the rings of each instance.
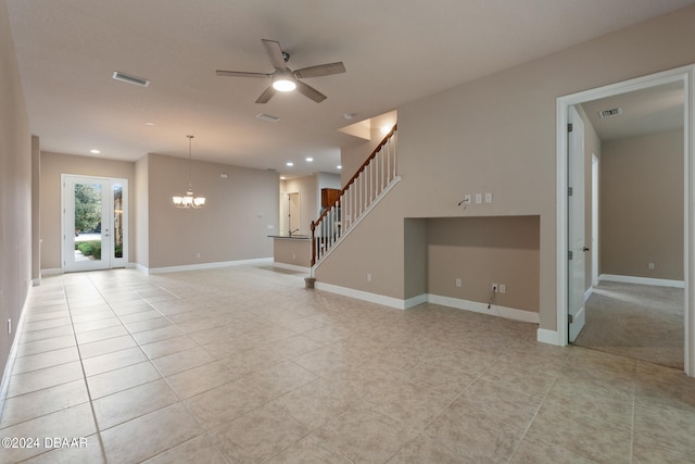
[[[101,260],[101,185],[75,184],[75,262]]]

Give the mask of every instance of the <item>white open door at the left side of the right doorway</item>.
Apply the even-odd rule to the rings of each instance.
[[[568,322],[569,342],[573,342],[584,327],[584,252],[589,251],[584,241],[584,122],[574,106],[569,108],[567,185],[568,208]]]

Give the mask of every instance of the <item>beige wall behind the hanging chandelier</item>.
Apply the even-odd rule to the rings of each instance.
[[[151,153],[147,172],[149,268],[273,256],[267,236],[278,230],[277,173],[193,162],[193,192],[207,203],[180,210],[172,196],[188,187],[188,160]]]

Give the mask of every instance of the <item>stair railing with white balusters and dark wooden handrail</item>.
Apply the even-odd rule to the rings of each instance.
[[[381,140],[369,158],[318,220],[312,222],[312,269],[401,180],[396,174],[397,126]]]

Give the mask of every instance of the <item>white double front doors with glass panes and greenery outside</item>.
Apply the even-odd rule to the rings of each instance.
[[[125,267],[128,180],[62,175],[63,271]]]

